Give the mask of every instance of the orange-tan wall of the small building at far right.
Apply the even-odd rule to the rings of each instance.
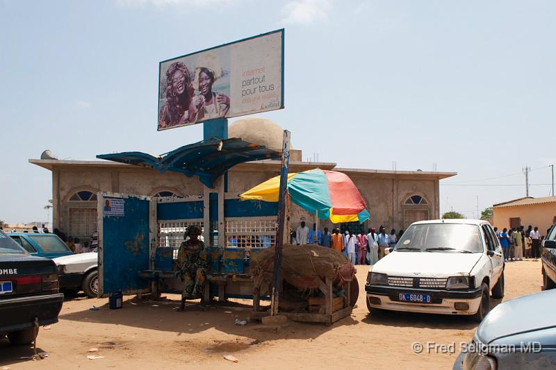
[[[542,203],[534,205],[516,205],[514,207],[494,207],[493,226],[509,228],[509,219],[521,218],[521,225],[539,227],[539,233],[546,235],[546,230],[553,225],[556,217],[556,203]]]

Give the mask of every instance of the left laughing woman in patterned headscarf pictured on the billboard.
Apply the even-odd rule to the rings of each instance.
[[[166,103],[158,114],[158,128],[188,123],[188,108],[193,97],[189,69],[183,62],[174,62],[166,71]]]

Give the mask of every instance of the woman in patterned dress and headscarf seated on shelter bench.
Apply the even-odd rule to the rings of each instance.
[[[203,297],[207,260],[204,243],[199,240],[199,235],[201,235],[199,226],[189,226],[186,233],[183,234],[183,239],[187,237],[189,239],[179,246],[177,264],[181,281],[183,281],[179,311],[185,309],[186,299]]]

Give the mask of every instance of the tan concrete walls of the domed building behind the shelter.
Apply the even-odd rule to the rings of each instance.
[[[304,169],[293,169],[293,171]],[[362,225],[364,230],[372,226],[384,225],[388,230],[407,228],[411,215],[428,219],[439,218],[439,180],[419,176],[398,174],[375,174],[372,172],[346,171],[365,199],[371,215],[370,221]],[[234,167],[228,173],[228,193],[238,195],[268,178],[279,174],[279,166],[272,164],[245,165]],[[158,171],[143,167],[124,166],[61,166],[53,171],[54,227],[69,229],[70,208],[96,208],[96,202],[75,202],[70,197],[80,190],[90,192],[119,192],[123,194],[152,196],[160,191],[170,191],[179,195],[203,194],[198,178],[188,178],[183,174]],[[426,205],[405,205],[409,196],[418,194],[427,201]],[[411,213],[414,212],[414,213]],[[417,212],[417,213],[415,213]],[[295,230],[304,219],[311,227],[314,215],[296,205],[291,208],[291,226]],[[332,230],[337,225],[329,221],[321,222]]]

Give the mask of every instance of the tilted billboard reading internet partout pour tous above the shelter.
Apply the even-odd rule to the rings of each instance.
[[[284,108],[284,29],[165,60],[158,131]]]

